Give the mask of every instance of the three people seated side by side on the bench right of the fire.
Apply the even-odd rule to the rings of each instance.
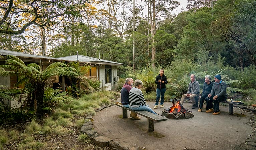
[[[199,95],[199,83],[195,79],[195,75],[190,76],[190,83],[187,94],[182,95],[180,103],[183,105],[185,99],[190,98],[192,101],[192,109],[198,107]],[[205,76],[205,82],[203,84],[203,92],[200,97],[200,104],[198,112],[202,112],[203,104],[206,101],[206,113],[212,113],[213,115],[219,115],[219,103],[227,99],[227,85],[221,80],[221,75],[214,76],[214,82],[211,81],[211,76]]]

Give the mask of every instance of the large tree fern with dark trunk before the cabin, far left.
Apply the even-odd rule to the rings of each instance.
[[[44,88],[48,79],[52,76],[77,76],[76,69],[68,67],[61,62],[55,62],[50,64],[45,70],[35,64],[31,63],[25,65],[25,63],[19,58],[8,55],[4,65],[0,65],[2,68],[9,69],[10,71],[0,70],[0,76],[17,75],[18,81],[15,86],[24,86],[27,89],[25,104],[32,107],[35,111],[37,118],[43,117],[43,99]]]

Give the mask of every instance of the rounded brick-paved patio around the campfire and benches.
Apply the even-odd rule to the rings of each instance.
[[[154,102],[147,104],[153,109]],[[172,103],[165,102],[164,106],[168,108]],[[197,109],[191,109],[191,103],[184,103],[183,106],[193,112],[193,118],[154,122],[154,132],[147,132],[147,118],[122,119],[122,109],[115,105],[97,112],[93,117],[93,127],[115,142],[147,150],[229,150],[240,145],[253,132],[251,126],[247,125],[251,114],[238,108],[234,108],[235,115],[229,115],[228,106],[220,106],[221,114],[213,116],[205,113],[205,108],[200,113]],[[162,108],[153,110],[162,113]]]

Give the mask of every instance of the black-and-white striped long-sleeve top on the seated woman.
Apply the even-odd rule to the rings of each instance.
[[[142,91],[133,87],[129,92],[129,107],[138,108],[140,105],[147,106]]]

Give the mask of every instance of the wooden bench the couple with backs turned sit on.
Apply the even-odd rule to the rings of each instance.
[[[146,117],[148,118],[148,131],[151,132],[151,131],[154,131],[154,121],[156,122],[159,122],[159,121],[165,121],[167,120],[166,117],[162,117],[160,115],[156,115],[156,114],[153,114],[151,112],[148,112],[148,111],[135,111],[135,110],[132,110],[130,108],[127,108],[127,107],[123,107],[123,105],[117,105],[116,106],[119,106],[122,108],[123,110],[123,118],[128,118],[128,113],[127,113],[127,110],[131,111],[131,112],[134,112],[138,115],[141,115],[143,117]]]

